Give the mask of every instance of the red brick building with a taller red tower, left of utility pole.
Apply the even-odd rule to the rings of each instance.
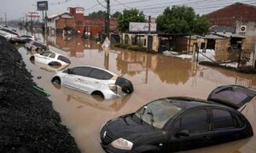
[[[67,13],[54,14],[48,18],[50,35],[60,34],[63,30],[73,30],[79,37],[97,37],[105,31],[105,18],[84,16],[84,8],[67,8]],[[118,21],[110,18],[110,32],[118,32]]]

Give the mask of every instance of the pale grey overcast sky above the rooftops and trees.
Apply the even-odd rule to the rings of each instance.
[[[0,21],[23,20],[29,11],[37,10],[38,0],[0,0]],[[44,0],[42,0],[44,1]],[[67,12],[68,7],[84,8],[84,15],[98,10],[106,10],[106,0],[48,0],[48,16]],[[110,0],[111,14],[123,9],[138,8],[146,15],[157,17],[166,7],[186,5],[195,9],[197,14],[207,14],[232,3],[247,3],[256,6],[255,0]],[[5,15],[6,14],[6,15]],[[42,13],[40,13],[42,14]]]

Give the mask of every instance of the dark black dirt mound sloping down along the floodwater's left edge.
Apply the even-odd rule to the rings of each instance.
[[[0,37],[0,152],[80,152],[20,53]]]

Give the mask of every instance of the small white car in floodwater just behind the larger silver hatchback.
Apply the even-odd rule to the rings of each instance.
[[[33,54],[30,57],[32,62],[38,62],[45,65],[69,65],[71,62],[67,57],[55,52],[45,51],[40,54]]]

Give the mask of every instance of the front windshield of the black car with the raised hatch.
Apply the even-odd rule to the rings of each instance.
[[[162,128],[179,111],[182,111],[182,108],[169,100],[157,99],[136,111],[136,116],[141,118],[143,122],[148,122],[148,124],[152,124],[154,127]]]

